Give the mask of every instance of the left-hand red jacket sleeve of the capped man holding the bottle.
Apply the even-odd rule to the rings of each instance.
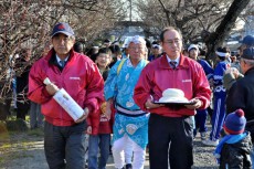
[[[46,92],[43,80],[45,74],[40,66],[40,61],[35,62],[29,74],[29,94],[28,97],[32,102],[38,104],[43,104],[52,98],[52,96]]]

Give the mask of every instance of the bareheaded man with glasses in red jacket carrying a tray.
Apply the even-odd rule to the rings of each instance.
[[[150,112],[148,125],[150,169],[191,169],[192,120],[197,108],[209,106],[211,91],[202,66],[181,54],[182,35],[167,28],[160,35],[166,52],[149,63],[141,72],[135,87],[134,99],[145,112]],[[158,105],[167,88],[183,91],[192,105]]]

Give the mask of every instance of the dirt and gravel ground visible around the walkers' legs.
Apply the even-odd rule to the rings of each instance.
[[[194,140],[193,169],[218,168],[212,156],[213,147],[204,147],[200,137]],[[147,160],[145,169],[149,169]],[[43,150],[42,130],[11,133],[0,135],[0,169],[47,169]],[[114,169],[113,158],[108,159],[107,169]]]

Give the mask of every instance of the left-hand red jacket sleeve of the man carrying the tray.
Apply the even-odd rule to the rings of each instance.
[[[151,97],[150,96],[151,75],[149,75],[148,67],[149,66],[146,66],[142,70],[138,83],[136,84],[134,91],[134,101],[142,110],[147,110],[145,104],[147,99]]]

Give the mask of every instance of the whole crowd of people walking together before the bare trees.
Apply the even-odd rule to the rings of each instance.
[[[213,62],[182,39],[169,27],[152,43],[135,35],[123,47],[106,39],[87,50],[61,22],[39,61],[31,64],[31,49],[23,51],[15,61],[27,65],[13,85],[17,118],[30,113],[31,129],[44,126],[49,168],[105,169],[113,154],[115,168],[142,169],[148,148],[151,169],[191,169],[198,134],[214,147],[220,168],[252,168],[254,38],[243,39],[239,55],[218,47]],[[53,98],[59,88],[84,109],[77,120]],[[168,88],[190,104],[157,103]]]

